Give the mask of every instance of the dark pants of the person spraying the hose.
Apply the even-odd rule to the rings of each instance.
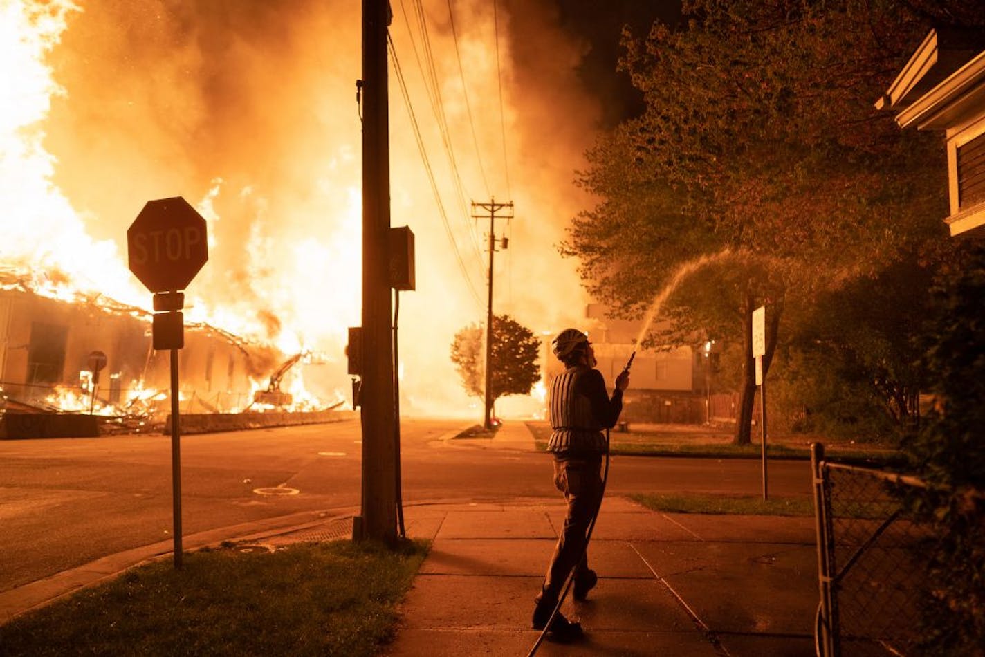
[[[538,603],[557,602],[567,575],[574,568],[574,576],[588,570],[585,555],[585,534],[602,503],[602,456],[576,458],[555,457],[555,486],[564,493],[567,514],[564,527],[558,536],[554,556],[544,579],[544,590]]]

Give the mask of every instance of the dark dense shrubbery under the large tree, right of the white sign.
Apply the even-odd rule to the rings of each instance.
[[[917,427],[932,282],[931,270],[903,259],[796,309],[771,389],[799,405],[788,414],[808,411],[800,428],[898,440]]]

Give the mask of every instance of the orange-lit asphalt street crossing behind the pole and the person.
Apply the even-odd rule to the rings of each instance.
[[[449,439],[470,423],[405,420],[405,505],[556,497],[531,442]],[[356,421],[182,436],[183,533],[301,511],[358,511]],[[770,463],[770,492],[811,492],[803,461]],[[0,591],[171,534],[168,435],[0,440]],[[609,492],[758,494],[757,460],[614,457]]]

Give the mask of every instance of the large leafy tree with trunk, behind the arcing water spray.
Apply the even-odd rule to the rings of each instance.
[[[755,391],[752,309],[767,304],[768,369],[784,309],[949,248],[940,137],[899,130],[874,101],[932,24],[981,22],[977,4],[689,0],[677,29],[624,39],[646,109],[589,151],[579,182],[600,201],[562,250],[628,316],[681,267],[713,260],[695,276],[730,281],[729,294],[671,296],[666,312],[679,332],[727,323],[719,337],[746,345],[738,442]]]

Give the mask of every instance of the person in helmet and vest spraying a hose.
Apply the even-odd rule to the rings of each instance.
[[[609,448],[604,429],[615,427],[623,412],[623,391],[629,372],[616,377],[612,398],[605,377],[595,369],[595,352],[588,336],[577,329],[561,331],[551,343],[565,369],[551,382],[548,409],[554,456],[554,482],[564,493],[567,513],[534,608],[534,629],[543,630],[558,604],[558,596],[574,568],[574,599],[585,600],[598,581],[588,567],[586,533],[602,504],[602,458]],[[581,624],[572,623],[559,612],[548,635],[565,641],[581,636]]]

